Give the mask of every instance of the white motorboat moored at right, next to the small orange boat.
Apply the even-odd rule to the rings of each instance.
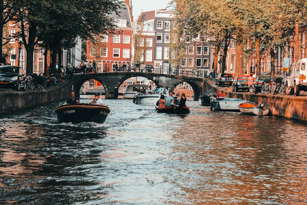
[[[238,105],[241,103],[246,103],[246,100],[238,98],[224,98],[222,100],[212,99],[210,104],[210,110],[220,110],[220,111],[239,111]]]

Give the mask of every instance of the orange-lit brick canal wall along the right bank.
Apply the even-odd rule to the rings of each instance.
[[[227,88],[218,87],[208,81],[204,82],[204,91],[212,89],[218,91],[222,90],[222,93],[225,94],[225,97],[231,98],[241,98],[255,104],[263,103],[264,106],[268,106],[270,109],[269,115],[276,117],[282,117],[289,120],[296,120],[300,122],[307,123],[307,97],[306,96],[297,96],[293,95],[271,95],[271,94],[262,94],[262,93],[247,93],[246,91],[239,91],[237,93],[227,90]]]

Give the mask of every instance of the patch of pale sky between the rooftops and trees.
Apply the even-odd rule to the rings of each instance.
[[[144,11],[153,11],[157,9],[164,9],[170,0],[132,0],[132,15],[135,20],[138,18],[138,15],[141,12],[141,9]]]

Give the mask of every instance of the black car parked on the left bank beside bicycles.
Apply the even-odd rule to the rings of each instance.
[[[25,72],[21,67],[12,65],[0,66],[0,87],[25,90]]]

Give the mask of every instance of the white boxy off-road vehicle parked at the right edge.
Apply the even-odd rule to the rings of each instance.
[[[285,92],[287,95],[299,96],[300,90],[307,91],[307,83],[306,83],[306,64],[307,58],[303,58],[294,62],[289,70]]]

